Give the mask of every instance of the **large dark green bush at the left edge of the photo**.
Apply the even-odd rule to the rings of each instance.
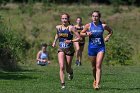
[[[25,54],[28,49],[26,40],[16,31],[6,27],[0,16],[0,68],[4,70],[15,70],[17,62],[26,60]]]

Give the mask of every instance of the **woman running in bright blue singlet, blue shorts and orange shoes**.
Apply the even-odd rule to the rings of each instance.
[[[101,14],[99,11],[92,12],[92,22],[85,25],[81,31],[81,36],[89,37],[88,55],[93,68],[93,87],[99,89],[101,79],[101,65],[105,54],[105,44],[112,35],[112,29],[107,24],[100,21]],[[103,38],[104,30],[108,31],[108,35]]]

